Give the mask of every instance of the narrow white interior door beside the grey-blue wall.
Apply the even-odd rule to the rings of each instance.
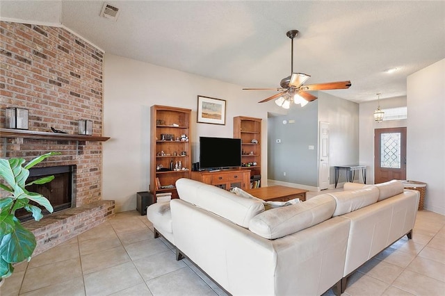
[[[320,122],[318,131],[318,188],[329,187],[329,123]]]

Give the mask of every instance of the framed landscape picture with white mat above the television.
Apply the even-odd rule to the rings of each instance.
[[[225,125],[225,100],[197,96],[197,122]]]

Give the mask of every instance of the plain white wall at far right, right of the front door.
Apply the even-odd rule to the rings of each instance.
[[[407,179],[427,183],[424,208],[445,215],[445,59],[407,79]]]

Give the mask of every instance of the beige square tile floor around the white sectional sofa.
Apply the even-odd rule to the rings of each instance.
[[[413,239],[401,238],[359,268],[343,295],[444,295],[444,225],[445,216],[419,211]],[[154,239],[152,224],[137,211],[17,265],[0,294],[225,295],[189,261],[176,261],[172,246]]]

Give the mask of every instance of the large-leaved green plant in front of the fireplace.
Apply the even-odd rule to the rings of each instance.
[[[31,184],[44,184],[52,181],[54,176],[45,176],[30,183],[26,183],[29,169],[49,156],[60,152],[49,152],[34,158],[27,163],[23,158],[0,158],[0,188],[6,191],[6,197],[0,197],[0,281],[10,277],[14,271],[14,264],[24,260],[31,260],[36,247],[34,234],[24,228],[15,217],[15,211],[24,208],[32,213],[35,221],[43,215],[38,206],[30,204],[33,201],[46,208],[50,213],[53,207],[49,200],[37,192],[29,192],[26,186]],[[2,194],[3,196],[3,194]]]

